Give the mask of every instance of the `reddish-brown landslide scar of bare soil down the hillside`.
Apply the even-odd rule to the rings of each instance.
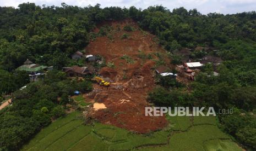
[[[132,20],[112,21],[107,22],[107,25],[112,26],[112,40],[107,36],[97,37],[85,48],[86,54],[101,55],[106,59],[106,63],[113,62],[115,65],[113,68],[101,68],[99,71],[111,85],[106,88],[94,84],[94,90],[85,95],[89,102],[104,103],[106,108],[90,109],[88,115],[101,123],[139,133],[162,129],[167,125],[165,117],[146,117],[145,107],[150,106],[146,96],[155,87],[153,68],[156,60],[159,60],[155,53],[161,53],[161,59],[168,63],[170,60],[166,51],[155,42],[155,36],[140,31]],[[125,32],[125,25],[132,25],[135,30]],[[99,31],[99,28],[95,31]],[[122,39],[123,33],[127,33],[129,37]],[[148,54],[151,57],[144,57]],[[121,59],[123,55],[129,56],[132,61]],[[167,66],[173,68],[171,65]]]

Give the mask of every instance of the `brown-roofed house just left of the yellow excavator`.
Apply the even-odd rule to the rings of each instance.
[[[85,75],[91,75],[95,72],[93,67],[79,66],[64,67],[62,71],[66,72],[68,77],[85,77]]]

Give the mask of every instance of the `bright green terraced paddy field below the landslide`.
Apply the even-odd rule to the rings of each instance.
[[[140,135],[100,123],[85,126],[79,115],[56,120],[21,150],[242,150],[214,117],[167,117],[166,129]]]

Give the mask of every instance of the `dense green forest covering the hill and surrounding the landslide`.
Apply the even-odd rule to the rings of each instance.
[[[18,8],[0,7],[0,93],[12,93],[11,107],[0,111],[0,150],[19,149],[38,132],[61,117],[68,96],[74,90],[90,91],[91,83],[74,82],[59,71],[74,62],[77,50],[94,38],[97,24],[107,20],[132,18],[140,28],[155,34],[170,53],[198,45],[214,47],[224,59],[219,76],[209,76],[213,66],[205,66],[195,81],[182,84],[160,83],[148,100],[161,106],[213,106],[233,108],[234,113],[219,115],[220,128],[238,143],[256,149],[256,13],[200,14],[197,9],[162,6],[141,10],[135,7],[101,8],[42,7],[23,3]],[[177,60],[175,55],[170,56]],[[26,59],[53,66],[43,81],[29,83],[28,75],[15,69]],[[166,80],[164,80],[166,81]],[[168,84],[167,84],[168,85]],[[2,97],[2,96],[1,96]],[[61,101],[57,98],[61,97]]]

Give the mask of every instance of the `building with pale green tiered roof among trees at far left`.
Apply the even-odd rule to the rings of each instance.
[[[39,75],[43,75],[43,70],[47,69],[47,66],[37,65],[27,59],[22,66],[18,67],[17,71],[26,71],[29,74],[31,81],[36,81]]]

